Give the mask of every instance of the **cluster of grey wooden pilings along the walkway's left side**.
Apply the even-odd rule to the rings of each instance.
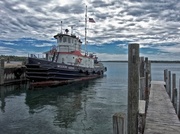
[[[127,117],[123,113],[113,115],[113,134],[143,133],[150,94],[150,81],[151,62],[147,57],[139,57],[139,44],[129,44],[128,114]]]

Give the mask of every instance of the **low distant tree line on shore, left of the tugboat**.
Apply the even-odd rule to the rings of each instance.
[[[5,61],[26,61],[27,57],[14,56],[14,55],[0,55],[0,59],[4,58]]]

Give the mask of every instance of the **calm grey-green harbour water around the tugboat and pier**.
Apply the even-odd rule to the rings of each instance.
[[[128,64],[104,62],[106,76],[88,82],[28,90],[0,87],[2,134],[112,134],[112,116],[127,111]],[[180,64],[152,63],[152,79],[163,70],[180,76]]]

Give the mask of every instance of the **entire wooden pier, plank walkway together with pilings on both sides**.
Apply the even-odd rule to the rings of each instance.
[[[151,61],[139,57],[139,44],[129,44],[128,110],[113,115],[113,134],[180,134],[179,120],[176,75],[166,69],[164,80],[151,80]]]

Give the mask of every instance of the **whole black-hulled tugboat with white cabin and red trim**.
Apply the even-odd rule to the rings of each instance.
[[[86,15],[87,16],[87,15]],[[87,26],[87,18],[86,25]],[[26,78],[32,82],[65,81],[91,76],[103,76],[107,70],[94,54],[81,52],[82,41],[79,37],[66,29],[54,36],[57,46],[45,52],[46,58],[35,55],[28,57],[26,64]],[[86,45],[86,28],[85,28]]]

